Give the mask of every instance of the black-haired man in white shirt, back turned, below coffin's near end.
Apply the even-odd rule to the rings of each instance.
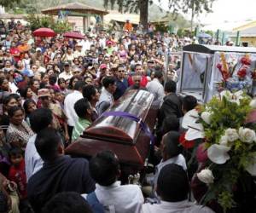
[[[143,193],[137,185],[120,185],[119,159],[111,151],[97,153],[91,158],[90,176],[96,181],[95,195],[105,213],[137,213],[144,202]],[[86,199],[91,204],[91,193]],[[92,206],[94,210],[94,207]]]

